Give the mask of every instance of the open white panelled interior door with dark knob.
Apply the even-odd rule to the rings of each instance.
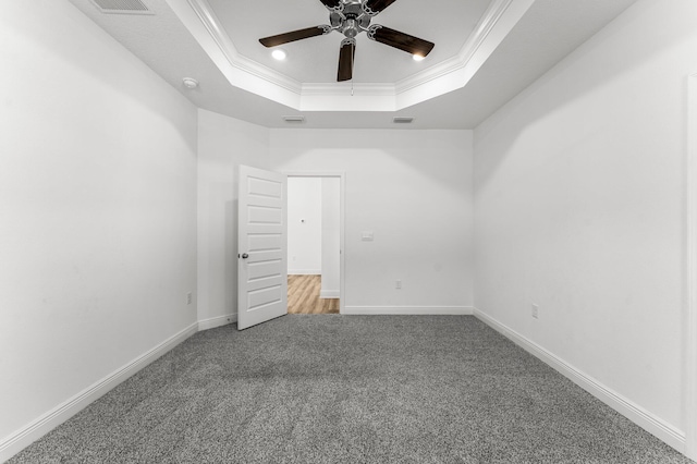
[[[286,176],[240,167],[237,329],[288,313]]]

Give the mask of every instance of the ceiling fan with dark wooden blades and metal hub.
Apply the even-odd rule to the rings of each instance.
[[[293,30],[285,34],[265,37],[259,39],[265,47],[277,47],[295,40],[322,36],[331,32],[346,36],[341,41],[339,52],[339,71],[337,81],[350,81],[353,77],[353,60],[356,53],[355,37],[360,33],[367,33],[368,38],[390,47],[412,53],[416,57],[426,57],[433,44],[381,26],[370,25],[372,16],[394,3],[396,0],[319,0],[329,10],[329,22],[331,25],[307,27],[305,29]]]

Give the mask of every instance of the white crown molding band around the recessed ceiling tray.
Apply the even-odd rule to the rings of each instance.
[[[535,0],[493,0],[458,53],[396,83],[299,83],[242,56],[208,0],[166,0],[231,85],[301,111],[398,111],[467,85]]]

